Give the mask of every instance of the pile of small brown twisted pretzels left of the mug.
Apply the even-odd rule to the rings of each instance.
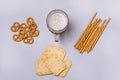
[[[26,23],[20,24],[19,22],[14,22],[11,31],[17,32],[17,34],[13,35],[14,41],[23,41],[26,44],[34,43],[34,37],[37,37],[40,33],[32,17],[27,18]]]

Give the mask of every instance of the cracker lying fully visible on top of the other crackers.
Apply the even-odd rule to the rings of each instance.
[[[59,75],[65,69],[64,62],[56,55],[49,56],[45,64],[54,75]]]

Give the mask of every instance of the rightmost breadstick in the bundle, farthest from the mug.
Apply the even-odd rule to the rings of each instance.
[[[106,28],[106,26],[108,25],[108,23],[110,22],[110,20],[111,20],[110,18],[108,18],[107,22],[106,22],[106,20],[104,20],[103,24],[101,25],[101,29],[100,29],[100,31],[99,31],[99,34],[98,34],[98,36],[96,37],[96,40],[93,42],[93,44],[92,44],[89,52],[95,47],[96,43],[98,42],[100,36],[102,35],[103,31],[105,30],[105,28]]]

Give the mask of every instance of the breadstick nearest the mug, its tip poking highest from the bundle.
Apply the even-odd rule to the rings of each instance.
[[[90,22],[87,25],[87,28],[85,29],[85,31],[87,31],[90,28],[90,25],[92,23],[92,21],[94,20],[94,18],[96,17],[97,13],[95,12],[94,15],[92,16]],[[76,42],[76,44],[74,45],[75,48],[78,48],[78,46],[80,46],[80,43],[82,41],[83,36],[85,35],[85,32],[82,33],[82,35],[80,36],[80,38],[78,39],[78,41]]]

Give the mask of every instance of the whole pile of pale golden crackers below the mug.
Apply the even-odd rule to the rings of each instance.
[[[65,77],[72,66],[72,62],[65,58],[66,51],[63,48],[49,45],[40,58],[35,62],[36,74]]]

